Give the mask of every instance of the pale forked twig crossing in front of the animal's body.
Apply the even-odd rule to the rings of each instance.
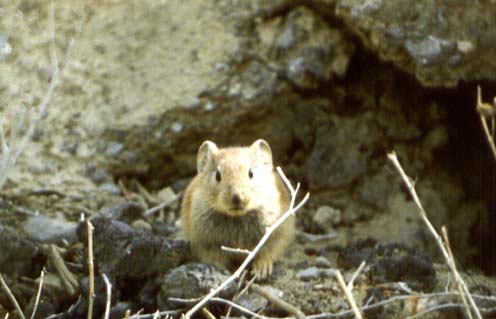
[[[197,312],[199,309],[201,309],[209,299],[211,299],[213,296],[217,295],[220,291],[222,291],[227,285],[229,285],[231,282],[239,278],[241,273],[248,267],[248,264],[255,258],[256,254],[260,251],[262,246],[265,244],[265,242],[269,239],[270,235],[284,222],[286,219],[294,215],[294,213],[300,209],[308,200],[308,197],[310,196],[308,193],[305,195],[305,197],[296,205],[294,206],[295,201],[296,201],[296,195],[297,192],[300,188],[300,184],[298,183],[296,186],[296,189],[293,188],[289,180],[286,178],[284,175],[283,171],[281,170],[280,167],[277,167],[277,172],[283,179],[283,181],[286,183],[286,186],[288,187],[290,193],[291,193],[291,203],[289,206],[289,209],[271,226],[267,227],[265,230],[265,234],[263,237],[260,239],[258,242],[257,246],[246,256],[245,260],[239,266],[239,268],[229,277],[227,278],[223,283],[221,283],[216,289],[213,289],[210,293],[208,293],[200,302],[198,302],[193,308],[191,308],[185,315],[185,319],[191,319],[191,316]]]

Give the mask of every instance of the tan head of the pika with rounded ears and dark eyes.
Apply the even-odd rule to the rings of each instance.
[[[249,147],[219,149],[205,141],[198,150],[198,175],[208,183],[205,190],[212,208],[230,216],[242,216],[260,206],[275,189],[272,151],[259,139]]]

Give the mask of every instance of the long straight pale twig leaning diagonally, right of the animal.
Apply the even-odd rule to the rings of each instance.
[[[460,274],[456,270],[455,262],[450,258],[450,254],[448,253],[448,249],[443,244],[441,236],[439,236],[436,229],[429,221],[429,218],[427,217],[427,213],[425,212],[424,207],[422,206],[422,203],[420,202],[420,199],[417,195],[417,192],[415,191],[415,187],[413,186],[408,175],[406,175],[405,171],[403,170],[403,167],[401,167],[401,164],[398,161],[398,157],[396,156],[396,153],[395,152],[389,153],[388,158],[394,164],[394,166],[396,167],[396,169],[400,173],[401,178],[403,179],[403,182],[408,187],[408,190],[410,191],[410,195],[412,196],[413,201],[415,202],[415,204],[418,207],[420,217],[422,218],[424,223],[427,225],[427,228],[429,229],[432,236],[436,240],[436,243],[439,246],[439,249],[441,250],[441,253],[443,254],[443,257],[446,260],[451,272],[455,276],[456,281],[458,282],[459,285],[462,286],[463,292],[467,296],[467,299],[469,300],[469,303],[470,303],[470,306],[472,307],[472,310],[475,312],[478,319],[482,319],[482,315],[481,315],[479,309],[477,308],[477,305],[475,304],[474,299],[470,295],[470,290],[468,289],[467,285],[465,284],[465,281],[463,280],[463,278],[460,276]],[[470,311],[470,309],[467,309],[467,311]]]

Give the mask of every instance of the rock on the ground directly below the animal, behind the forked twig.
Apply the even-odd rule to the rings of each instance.
[[[176,309],[183,304],[175,304],[168,298],[193,299],[201,297],[216,288],[229,277],[229,273],[210,264],[188,263],[171,269],[162,278],[159,295],[161,309]],[[229,284],[219,296],[230,299],[236,293],[236,285]]]

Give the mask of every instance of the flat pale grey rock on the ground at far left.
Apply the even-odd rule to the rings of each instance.
[[[76,239],[77,224],[43,215],[32,216],[26,220],[23,230],[34,241],[56,243],[61,240],[72,242]]]

